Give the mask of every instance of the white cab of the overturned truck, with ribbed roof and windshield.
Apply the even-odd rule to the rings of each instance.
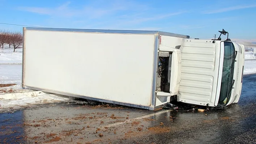
[[[177,101],[225,108],[239,101],[244,45],[227,40],[183,39]]]

